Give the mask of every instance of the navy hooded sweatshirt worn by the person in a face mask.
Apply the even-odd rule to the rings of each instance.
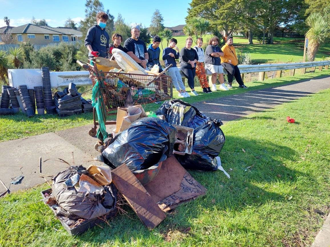
[[[93,51],[98,51],[100,53],[100,57],[107,57],[109,50],[109,34],[105,31],[105,29],[101,29],[101,27],[97,24],[88,29],[87,35],[85,38],[85,46],[91,45]],[[88,57],[93,57],[93,55],[88,52]]]

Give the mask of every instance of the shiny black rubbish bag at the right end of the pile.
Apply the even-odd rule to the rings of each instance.
[[[225,136],[218,126],[219,123],[210,121],[194,129],[192,153],[175,154],[175,157],[185,169],[200,171],[217,170],[215,157],[219,155]]]

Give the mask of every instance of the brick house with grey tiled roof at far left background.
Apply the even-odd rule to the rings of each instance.
[[[82,32],[70,27],[49,27],[34,24],[25,24],[18,27],[1,27],[0,44],[2,34],[11,34],[15,44],[30,42],[31,44],[49,44],[56,42],[79,41]]]

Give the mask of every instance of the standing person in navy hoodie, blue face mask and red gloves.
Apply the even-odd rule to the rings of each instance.
[[[85,38],[85,46],[88,49],[88,57],[108,57],[110,37],[105,31],[106,23],[109,16],[104,12],[99,12],[96,15],[94,26],[88,29]]]

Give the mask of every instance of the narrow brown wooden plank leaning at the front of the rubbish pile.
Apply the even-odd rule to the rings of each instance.
[[[122,164],[111,173],[113,183],[148,229],[153,229],[166,218],[126,164]]]

